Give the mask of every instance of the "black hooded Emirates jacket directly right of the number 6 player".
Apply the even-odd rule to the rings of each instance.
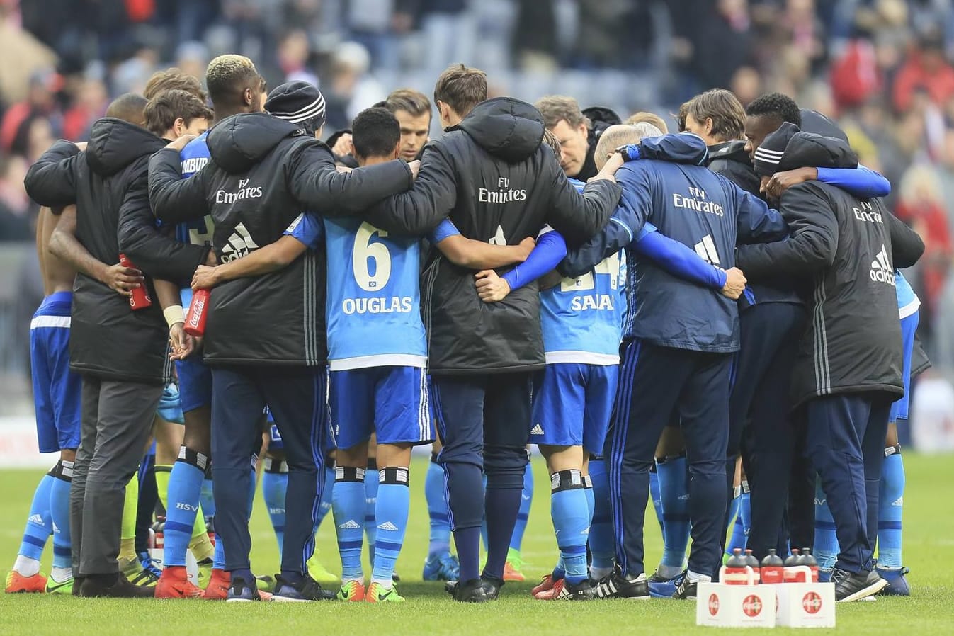
[[[577,193],[550,148],[540,145],[543,133],[543,117],[530,104],[508,97],[478,104],[427,145],[414,187],[387,199],[371,223],[403,218],[404,233],[419,235],[449,215],[463,236],[509,245],[549,223],[579,245],[606,224],[620,189],[600,180]],[[537,285],[485,303],[473,275],[432,252],[421,284],[431,373],[542,367]]]

